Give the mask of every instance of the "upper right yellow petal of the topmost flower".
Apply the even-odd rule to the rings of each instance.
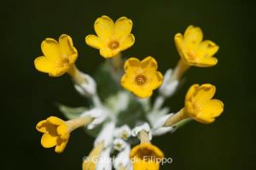
[[[114,34],[118,38],[123,38],[131,33],[132,21],[126,17],[120,17],[115,21]]]

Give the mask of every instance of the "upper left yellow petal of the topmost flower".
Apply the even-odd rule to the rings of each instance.
[[[99,17],[94,24],[94,28],[98,37],[108,39],[113,36],[114,23],[108,16]]]

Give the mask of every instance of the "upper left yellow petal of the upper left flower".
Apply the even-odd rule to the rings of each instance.
[[[47,59],[52,61],[56,61],[61,59],[61,48],[58,42],[55,41],[53,38],[46,38],[41,43],[41,49],[44,56]]]

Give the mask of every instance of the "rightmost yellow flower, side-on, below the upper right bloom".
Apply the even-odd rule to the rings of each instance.
[[[210,123],[224,111],[224,104],[218,99],[212,99],[216,91],[212,84],[199,86],[194,84],[189,88],[185,99],[184,112],[198,122]]]

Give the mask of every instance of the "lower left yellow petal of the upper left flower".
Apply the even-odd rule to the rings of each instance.
[[[35,59],[34,65],[41,72],[49,73],[55,71],[55,63],[44,56]]]

